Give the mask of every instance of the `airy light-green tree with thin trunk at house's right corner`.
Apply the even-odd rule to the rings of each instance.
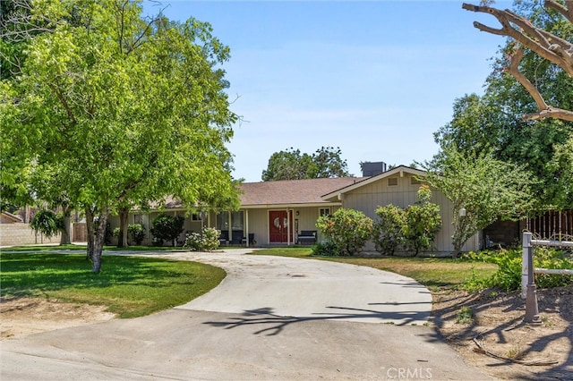
[[[535,176],[523,165],[500,161],[491,153],[471,155],[449,147],[423,167],[428,172],[424,181],[453,204],[454,257],[472,235],[498,218],[515,220],[533,209]]]

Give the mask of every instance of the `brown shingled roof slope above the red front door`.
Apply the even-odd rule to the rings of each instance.
[[[335,177],[276,182],[244,182],[239,195],[241,207],[265,207],[294,204],[327,204],[322,195],[345,188],[363,178]]]

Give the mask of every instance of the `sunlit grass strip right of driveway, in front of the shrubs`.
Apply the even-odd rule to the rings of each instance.
[[[280,255],[295,258],[317,258],[358,266],[378,268],[404,275],[424,284],[431,291],[440,287],[453,287],[464,284],[467,279],[477,276],[480,279],[493,275],[497,265],[481,261],[469,261],[453,258],[346,258],[312,257],[310,248],[280,248],[257,250],[254,255]]]

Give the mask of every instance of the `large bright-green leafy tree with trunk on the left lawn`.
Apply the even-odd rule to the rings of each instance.
[[[138,1],[19,4],[30,15],[1,32],[26,44],[18,75],[0,85],[2,148],[57,164],[61,189],[85,209],[94,272],[110,212],[166,195],[236,202],[225,146],[236,116],[220,69],[229,50],[209,24],[146,19]]]

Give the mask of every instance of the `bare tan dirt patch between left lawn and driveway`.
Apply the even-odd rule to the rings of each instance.
[[[40,298],[0,299],[0,340],[115,318],[105,306]]]

